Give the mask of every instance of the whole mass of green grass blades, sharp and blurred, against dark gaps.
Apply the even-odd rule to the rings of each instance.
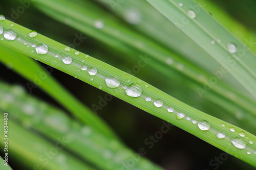
[[[41,12],[87,34],[86,36],[89,36],[87,41],[90,39],[90,44],[87,42],[88,47],[87,45],[74,45],[75,39],[71,40],[73,47],[80,50],[69,48],[53,40],[56,39],[65,44],[70,42],[64,37],[50,33],[50,30],[55,29],[50,24],[55,23],[53,20],[49,21],[45,32],[42,31],[44,28],[41,31],[38,30],[47,36],[36,34],[35,37],[30,37],[30,29],[10,21],[7,17],[0,20],[0,25],[3,27],[3,33],[0,34],[0,60],[30,81],[26,83],[31,85],[28,87],[29,90],[35,84],[63,107],[58,109],[58,106],[48,104],[50,102],[42,102],[20,87],[0,83],[0,110],[9,113],[10,136],[14,136],[13,140],[10,140],[10,146],[12,146],[10,152],[15,155],[12,159],[18,160],[23,166],[33,167],[39,164],[47,169],[62,169],[63,166],[68,166],[68,169],[74,167],[77,169],[120,169],[124,166],[123,162],[127,163],[134,159],[135,152],[129,149],[131,143],[128,144],[129,147],[123,143],[136,137],[130,136],[129,140],[121,141],[99,116],[93,114],[93,112],[102,113],[102,108],[112,99],[110,95],[111,99],[103,99],[101,96],[97,98],[98,94],[95,91],[102,90],[256,166],[256,137],[253,135],[255,134],[256,105],[255,98],[251,96],[251,94],[255,96],[253,88],[255,56],[252,52],[243,48],[243,44],[238,39],[192,1],[148,0],[166,18],[153,6],[142,1],[124,1],[114,11],[108,1],[98,0],[97,2],[101,6],[96,2],[80,0],[74,2],[39,0],[33,3],[33,6]],[[200,12],[196,11],[195,7]],[[211,9],[210,4],[206,7],[208,7],[206,9]],[[189,11],[192,8],[195,13]],[[137,10],[135,18],[140,19],[132,26],[129,24],[131,20],[127,19],[126,13],[131,9]],[[188,11],[190,17],[187,14]],[[35,15],[40,16],[40,14]],[[220,15],[226,16],[225,13]],[[33,17],[28,17],[28,22],[29,19]],[[178,25],[186,35],[178,31],[168,19]],[[234,25],[240,25],[229,17],[226,17],[226,20]],[[187,22],[186,24],[180,23],[182,21]],[[45,26],[46,22],[40,22],[40,25]],[[29,25],[27,27],[33,28]],[[57,30],[60,35],[61,32],[66,35],[66,30],[60,29],[62,27],[63,25]],[[240,32],[245,32],[245,30],[246,28],[243,28]],[[8,34],[12,34],[13,37],[9,39]],[[251,35],[253,36],[253,33]],[[97,41],[92,41],[91,37]],[[238,37],[243,39],[245,36]],[[214,44],[211,44],[212,42]],[[230,54],[231,50],[227,49],[227,44],[230,42],[236,44],[237,51],[235,50],[234,54]],[[41,52],[38,51],[39,48]],[[241,50],[245,51],[246,57],[241,56]],[[44,68],[27,56],[44,63]],[[113,56],[114,60],[110,56]],[[93,57],[100,58],[104,62]],[[106,63],[111,63],[113,66]],[[135,66],[140,67],[139,73],[135,74],[136,77],[132,76],[134,72],[129,71]],[[205,89],[207,80],[216,76],[212,74],[212,71],[223,70],[223,66],[228,68],[230,74],[224,72],[225,76],[219,79],[217,84],[212,84],[210,89]],[[63,81],[58,76],[53,78],[56,76],[56,69],[74,78],[69,81]],[[62,81],[62,85],[56,79]],[[13,80],[12,76],[7,80]],[[79,84],[79,87],[75,84],[78,80],[98,90],[86,84]],[[241,85],[234,85],[238,84],[238,81],[245,88]],[[69,83],[74,83],[69,90],[76,91],[82,99],[89,101],[91,109],[84,106],[63,87]],[[203,90],[201,91],[203,93],[200,94],[199,90]],[[49,98],[46,99],[49,100]],[[116,130],[122,136],[125,133],[122,134],[122,131],[125,131],[127,125],[134,130],[140,130],[140,128],[136,129],[134,124],[136,119],[132,118],[132,113],[129,114],[127,105],[123,107],[121,100],[114,103],[109,112],[104,111],[103,117],[109,120],[114,119],[115,123],[119,123],[122,128]],[[67,110],[71,116],[61,109]],[[124,115],[129,115],[131,118]],[[157,118],[151,120],[153,125],[155,120]],[[139,125],[143,126],[143,123]],[[146,131],[149,129],[147,126],[143,128]],[[84,129],[87,132],[90,131],[90,134],[84,135]],[[126,131],[126,133],[131,132],[132,130],[129,129]],[[141,133],[141,140],[143,140],[143,135],[144,133]],[[178,136],[183,135],[181,133]],[[24,136],[31,140],[18,143],[17,141],[22,140]],[[62,157],[64,156],[69,161],[62,161],[58,164],[55,161],[58,156],[47,165],[38,161],[40,154],[50,150],[57,142],[57,138],[61,136],[72,140],[71,143],[65,145],[63,151],[60,151]],[[143,140],[144,144],[146,144],[146,139]],[[182,141],[189,143],[189,139],[186,138]],[[28,149],[36,143],[41,144],[37,144],[37,147],[32,150]],[[167,143],[169,145],[174,141],[172,139]],[[191,143],[188,145],[195,148],[196,152],[202,150],[199,145]],[[141,144],[137,147],[140,148]],[[133,147],[134,150],[137,150],[137,147]],[[163,149],[166,150],[168,147],[165,145]],[[161,158],[161,151],[157,152],[157,149],[152,151],[158,153],[156,157]],[[151,156],[146,155],[146,157]],[[243,166],[244,168],[250,167]],[[136,160],[132,168],[161,169],[155,163],[142,157]]]

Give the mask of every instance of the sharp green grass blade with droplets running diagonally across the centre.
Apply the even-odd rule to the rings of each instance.
[[[0,23],[5,37],[0,35],[3,39],[0,43],[98,87],[256,166],[256,137],[249,132],[192,108],[152,85],[73,48],[67,50],[67,46],[50,38],[40,34],[29,37],[31,30],[7,19]],[[12,30],[10,25],[13,25]],[[240,132],[245,133],[246,138],[241,138]]]

